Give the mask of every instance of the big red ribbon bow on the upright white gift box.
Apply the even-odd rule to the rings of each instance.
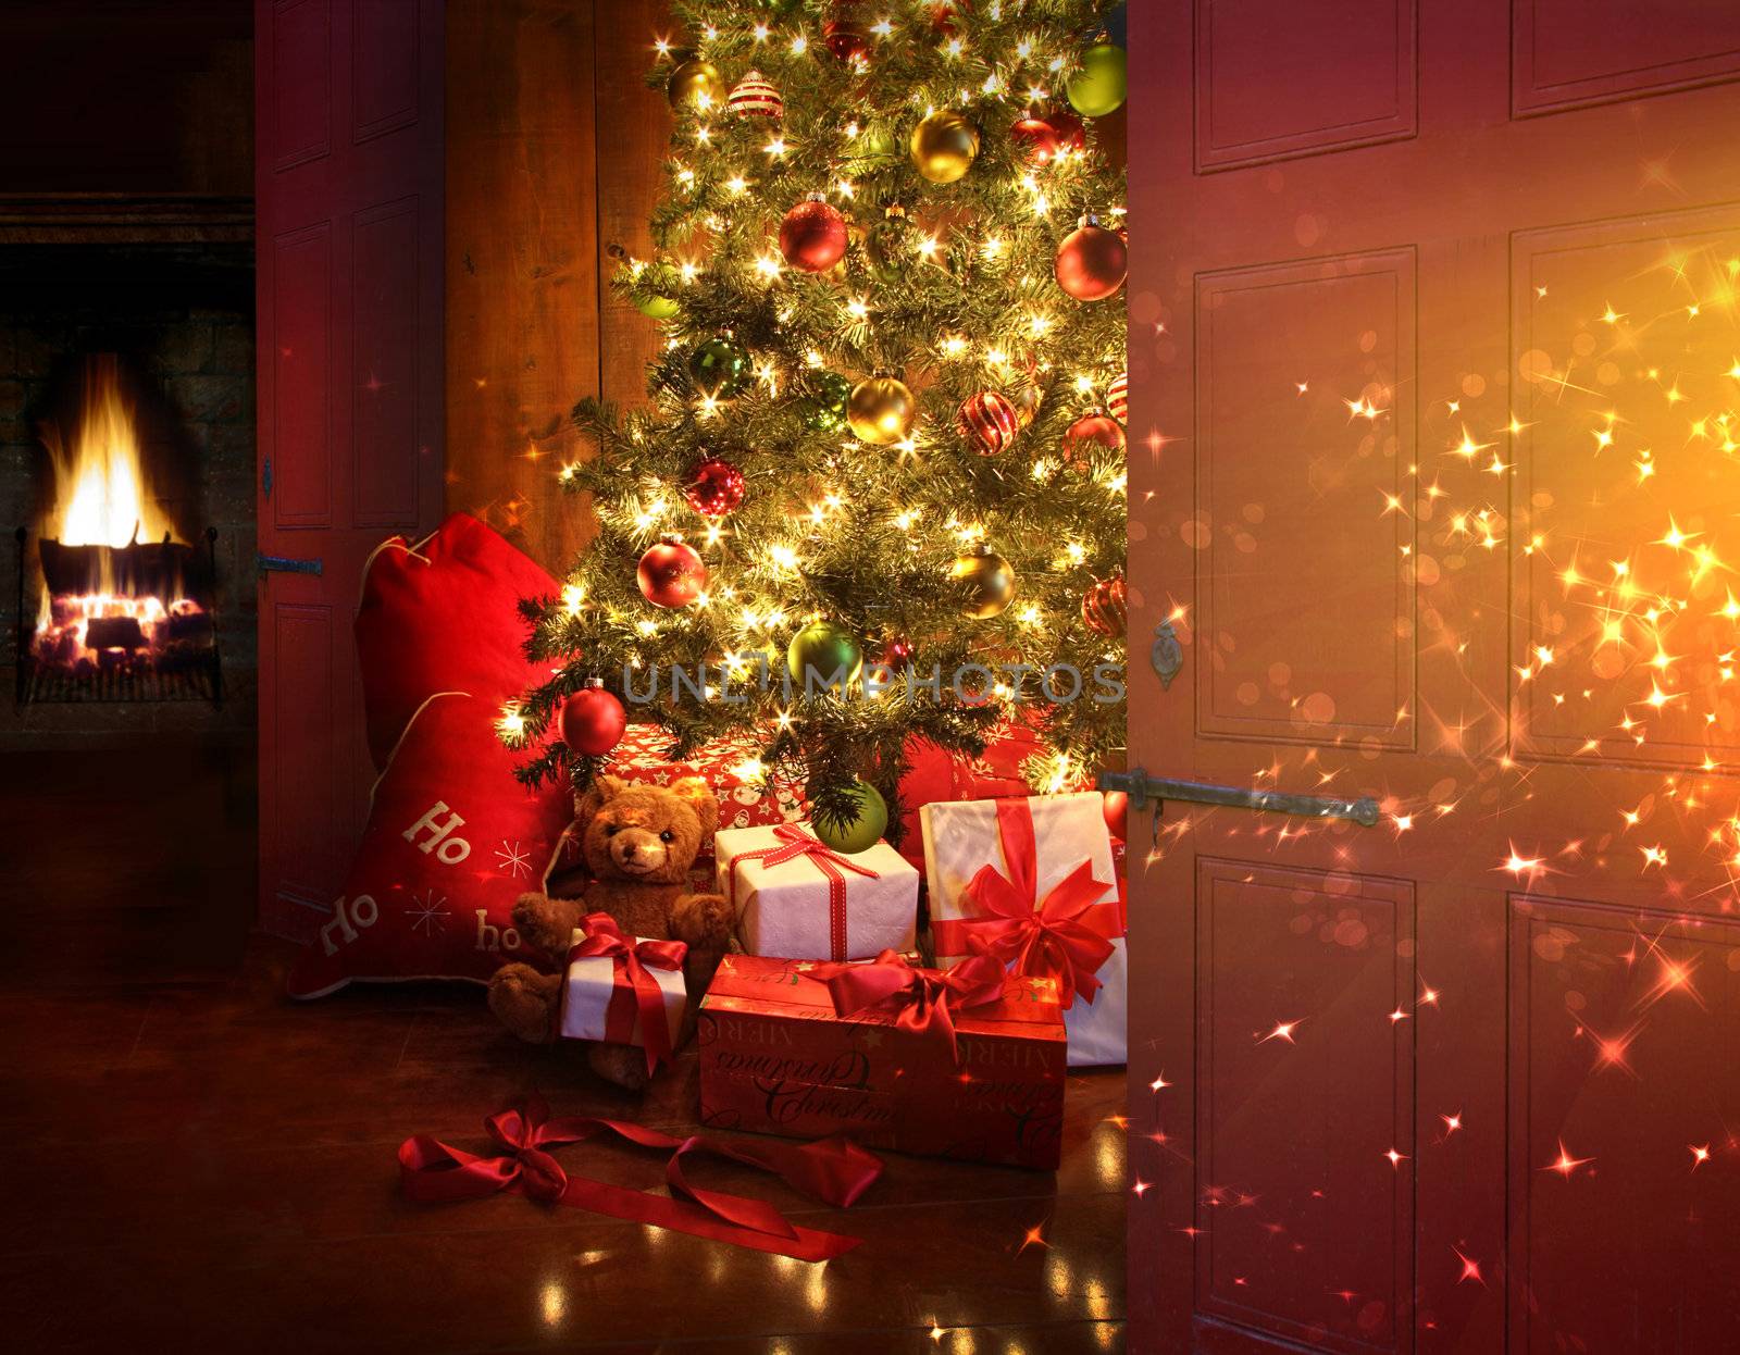
[[[934,922],[936,951],[983,950],[1013,964],[1016,974],[1054,979],[1058,1005],[1072,1005],[1077,993],[1091,1004],[1100,991],[1094,971],[1124,931],[1117,904],[1098,903],[1112,885],[1093,878],[1093,861],[1084,859],[1041,899],[1039,844],[1027,800],[997,800],[997,837],[1009,875],[992,864],[980,866],[962,894],[981,917]]]

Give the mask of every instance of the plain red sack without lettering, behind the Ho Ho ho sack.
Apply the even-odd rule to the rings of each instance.
[[[543,565],[466,513],[411,544],[383,541],[362,576],[357,656],[369,753],[385,767],[398,736],[435,692],[470,692],[494,708],[548,673],[525,661],[520,598],[555,597]]]

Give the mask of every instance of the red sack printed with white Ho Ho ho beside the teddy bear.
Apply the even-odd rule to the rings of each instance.
[[[572,805],[560,786],[513,779],[498,715],[463,692],[416,711],[374,783],[345,896],[291,971],[292,997],[351,979],[487,979],[538,958],[513,931],[513,901],[543,889]]]

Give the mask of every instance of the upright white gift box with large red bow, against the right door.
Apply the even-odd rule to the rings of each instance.
[[[936,964],[988,950],[1058,983],[1072,1068],[1124,1063],[1129,958],[1094,791],[919,811]]]

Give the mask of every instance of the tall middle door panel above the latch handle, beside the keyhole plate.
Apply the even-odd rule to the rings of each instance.
[[[1197,280],[1199,511],[1185,544],[1209,581],[1201,732],[1411,744],[1408,524],[1369,510],[1408,496],[1415,388],[1395,377],[1413,372],[1413,275],[1411,250],[1392,250]],[[1326,369],[1326,353],[1340,362]],[[1310,400],[1303,372],[1357,391],[1355,409]],[[1275,428],[1298,492],[1275,492]]]

